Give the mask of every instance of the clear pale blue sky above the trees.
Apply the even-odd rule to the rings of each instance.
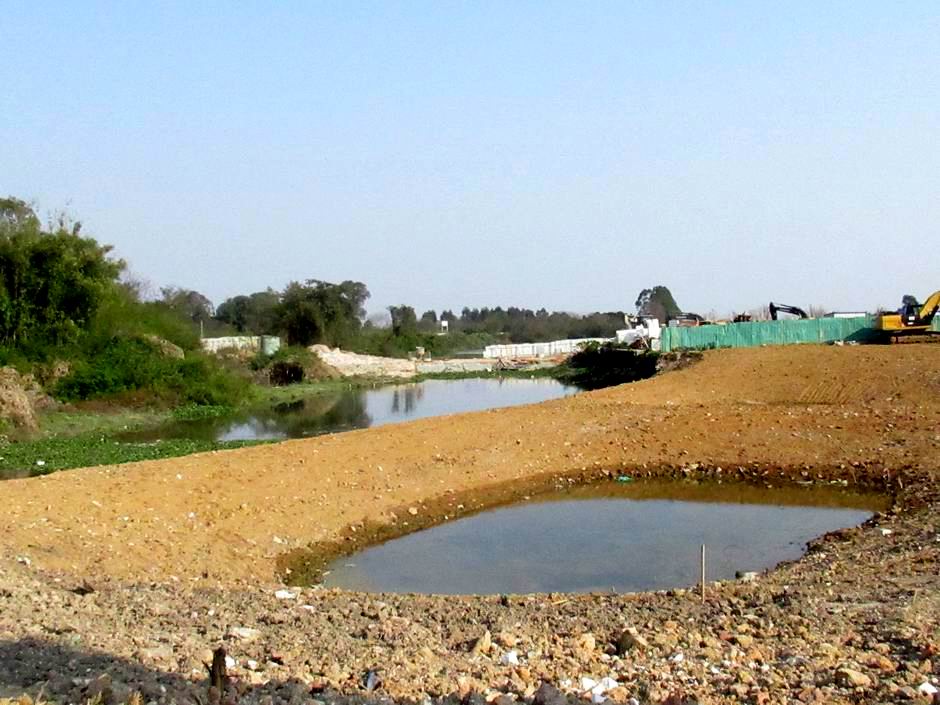
[[[0,143],[0,194],[216,303],[940,288],[937,0],[0,0]]]

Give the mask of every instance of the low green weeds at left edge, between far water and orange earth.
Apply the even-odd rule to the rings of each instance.
[[[268,441],[203,441],[168,439],[152,443],[133,443],[97,434],[73,437],[49,437],[0,445],[0,479],[46,475],[57,470],[117,465],[138,460],[176,458],[259,445]]]

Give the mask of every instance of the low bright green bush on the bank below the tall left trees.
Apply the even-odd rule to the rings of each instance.
[[[132,392],[165,403],[226,406],[244,398],[247,384],[198,353],[180,360],[164,356],[146,340],[115,337],[78,361],[59,380],[54,396],[74,401]]]

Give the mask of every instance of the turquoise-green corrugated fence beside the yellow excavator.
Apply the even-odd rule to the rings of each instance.
[[[940,321],[934,321],[937,324]],[[811,318],[808,320],[754,321],[724,326],[663,328],[662,350],[749,348],[758,345],[831,343],[836,340],[868,342],[875,337],[872,319]]]

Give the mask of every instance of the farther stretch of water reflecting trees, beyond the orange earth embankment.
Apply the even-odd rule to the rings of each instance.
[[[351,431],[504,406],[534,404],[578,391],[553,379],[428,380],[375,389],[323,392],[264,409],[220,418],[179,421],[124,434],[122,440],[191,438],[210,441],[277,440]]]

